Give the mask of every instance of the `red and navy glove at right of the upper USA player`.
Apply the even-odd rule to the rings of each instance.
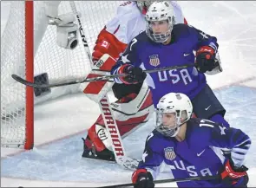
[[[213,70],[219,65],[215,62],[215,51],[212,47],[203,46],[196,52],[195,67],[200,73]]]

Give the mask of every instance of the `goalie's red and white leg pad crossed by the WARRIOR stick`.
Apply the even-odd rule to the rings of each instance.
[[[135,113],[128,114],[128,109],[138,107],[138,103],[140,104],[140,108],[135,110]],[[148,88],[142,90],[141,94],[138,95],[128,94],[128,96],[123,97],[121,100],[111,103],[111,107],[114,110],[114,116],[121,138],[125,138],[140,127],[143,122],[148,121],[150,115],[154,112],[152,95]],[[126,111],[122,112],[122,109],[126,109]],[[88,135],[97,151],[102,151],[105,148],[112,150],[112,142],[108,131],[105,129],[102,114],[98,117],[95,124],[89,128]]]

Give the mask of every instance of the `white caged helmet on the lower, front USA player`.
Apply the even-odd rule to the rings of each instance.
[[[186,94],[169,93],[161,97],[156,108],[155,129],[168,137],[179,133],[180,126],[191,118],[193,106]],[[174,113],[174,125],[163,125],[163,113]]]

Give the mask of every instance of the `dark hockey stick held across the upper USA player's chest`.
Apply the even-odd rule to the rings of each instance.
[[[181,65],[181,66],[171,66],[171,67],[164,67],[164,68],[154,68],[154,69],[150,69],[150,70],[144,70],[144,72],[145,73],[155,73],[155,72],[164,71],[164,70],[173,70],[173,69],[190,68],[190,67],[194,67],[194,64],[186,64],[186,65]],[[33,83],[30,81],[24,80],[22,77],[20,77],[18,75],[11,75],[11,77],[14,80],[16,80],[26,86],[30,86],[30,87],[34,87],[34,88],[56,88],[56,87],[68,86],[68,85],[72,85],[72,84],[89,82],[89,81],[109,81],[108,79],[113,79],[113,78],[117,78],[117,77],[121,77],[121,76],[125,76],[125,75],[128,75],[128,74],[101,75],[101,76],[94,77],[94,78],[73,79],[73,80],[67,80],[67,81],[50,83],[50,84]]]

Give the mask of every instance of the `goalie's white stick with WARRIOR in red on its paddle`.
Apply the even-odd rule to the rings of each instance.
[[[86,50],[87,55],[89,56],[90,66],[92,68],[93,67],[93,62],[92,62],[91,54],[90,54],[90,51],[89,51],[88,42],[86,40],[86,36],[84,34],[84,31],[82,29],[82,23],[81,23],[81,20],[80,20],[80,16],[78,15],[78,12],[75,8],[75,3],[73,1],[70,1],[69,3],[70,3],[72,11],[75,14],[76,19],[79,23],[79,31],[80,31],[80,35],[82,37],[83,46],[84,46],[84,49]],[[108,75],[108,76],[104,75],[104,76],[101,77],[100,80],[104,80],[106,78],[109,78],[109,76],[113,77],[113,75]],[[85,79],[85,80],[88,80],[88,79]],[[82,82],[84,82],[85,80],[83,80]],[[81,81],[80,82],[75,81],[75,83],[82,83],[82,82]],[[112,149],[113,149],[113,152],[115,154],[116,163],[118,165],[122,165],[122,166],[124,166],[128,169],[134,170],[137,167],[139,161],[137,161],[136,159],[129,158],[126,155],[126,152],[124,150],[124,146],[123,146],[122,141],[121,141],[121,135],[119,133],[119,129],[116,125],[115,117],[113,115],[114,114],[113,110],[109,105],[109,100],[108,100],[108,95],[107,94],[105,94],[105,96],[102,97],[102,100],[100,100],[100,102],[99,102],[99,106],[100,106],[100,109],[101,109],[104,124],[105,124],[106,129],[107,129],[107,131],[108,131],[108,133],[111,137],[111,140],[112,140]]]

